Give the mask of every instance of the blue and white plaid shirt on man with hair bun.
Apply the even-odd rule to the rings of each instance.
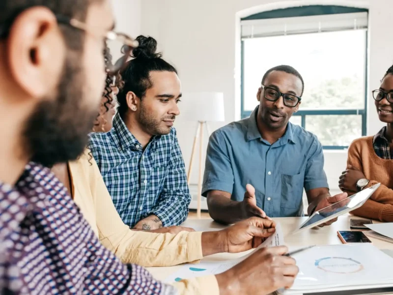
[[[143,150],[116,114],[110,132],[90,134],[89,148],[125,224],[152,214],[164,227],[186,220],[191,195],[174,128]]]

